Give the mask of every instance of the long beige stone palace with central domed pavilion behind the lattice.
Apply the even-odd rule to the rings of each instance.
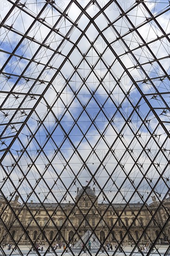
[[[18,199],[16,195],[7,206],[0,197],[1,243],[76,243],[89,230],[100,243],[114,244],[154,243],[166,241],[170,235],[169,216],[165,214],[170,209],[170,197],[157,202],[153,196],[150,205],[109,205],[99,203],[95,189],[88,186],[77,188],[76,203],[21,204]]]

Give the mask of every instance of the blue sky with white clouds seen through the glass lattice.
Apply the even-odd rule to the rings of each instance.
[[[78,2],[82,7],[88,4],[88,1]],[[101,6],[107,2],[99,1],[98,4]],[[8,1],[4,3],[1,20],[12,7]],[[47,185],[52,188],[54,181],[59,177],[54,189],[59,191],[58,193],[64,193],[70,185],[70,191],[73,191],[70,195],[74,196],[76,186],[80,186],[78,181],[76,185],[71,185],[75,175],[82,185],[85,185],[86,180],[93,181],[92,173],[96,179],[96,191],[99,189],[96,185],[98,183],[112,200],[117,189],[113,186],[113,181],[118,187],[123,182],[122,191],[125,195],[128,194],[127,198],[134,192],[133,183],[128,179],[125,181],[127,174],[135,180],[135,186],[139,186],[140,191],[149,193],[156,184],[159,173],[163,172],[169,177],[170,170],[165,166],[169,157],[170,141],[163,125],[159,124],[155,117],[157,113],[164,127],[169,129],[169,123],[164,122],[170,118],[167,110],[170,103],[170,83],[166,78],[170,63],[167,58],[170,52],[168,40],[166,37],[156,40],[157,36],[163,35],[163,31],[157,26],[157,22],[146,22],[150,13],[142,3],[135,8],[132,8],[134,3],[129,1],[118,3],[124,11],[129,10],[127,17],[121,18],[120,9],[115,6],[115,2],[112,3],[104,11],[107,18],[103,14],[99,15],[94,20],[98,29],[92,24],[76,47],[74,44],[81,35],[81,30],[83,31],[89,22],[88,15],[94,17],[99,12],[97,5],[89,6],[87,16],[83,14],[80,20],[77,20],[78,25],[70,31],[72,22],[75,22],[81,12],[75,3],[66,10],[67,18],[61,17],[61,13],[69,1],[57,3],[57,10],[47,6],[40,15],[40,20],[32,25],[20,45],[19,41],[34,20],[31,15],[36,16],[44,2],[26,2],[27,8],[24,8],[27,13],[16,7],[5,22],[7,26],[13,24],[13,31],[9,31],[8,27],[1,28],[1,67],[13,52],[1,75],[1,132],[4,137],[0,145],[2,150],[10,145],[26,120],[2,162],[2,174],[6,176],[4,170],[11,170],[15,186],[22,191],[31,190],[28,181],[35,187],[36,192],[42,188],[46,191]],[[166,10],[168,6],[168,3],[158,1],[145,4],[155,15]],[[112,27],[108,26],[109,20],[113,23]],[[158,16],[157,21],[168,34],[168,13]],[[50,28],[56,22],[56,29],[59,31],[50,33]],[[132,24],[138,28],[136,32],[130,31]],[[99,34],[100,30],[103,30],[102,34]],[[119,38],[120,35],[123,40]],[[105,38],[110,43],[109,46]],[[153,40],[148,45],[150,48],[138,47],[144,44],[144,40]],[[42,42],[44,46],[40,47]],[[16,46],[19,47],[14,51]],[[75,49],[69,54],[72,47]],[[57,52],[54,53],[56,49]],[[132,52],[128,53],[129,50]],[[82,61],[83,54],[86,57]],[[157,59],[160,58],[159,63],[154,61],[154,55]],[[29,61],[30,59],[32,61]],[[58,71],[63,62],[64,65]],[[9,77],[8,73],[12,75]],[[8,98],[7,92],[10,93]],[[160,92],[165,94],[153,97],[155,93]],[[145,97],[142,97],[143,94]],[[6,99],[4,103],[3,99]],[[136,106],[136,109],[133,106]],[[125,126],[126,120],[128,123]],[[164,154],[159,152],[161,147],[166,149]],[[149,149],[151,154],[147,155],[146,150]],[[134,159],[130,151],[134,152],[131,153]],[[2,156],[3,154],[4,151],[1,152]],[[143,169],[139,166],[143,166]],[[23,177],[23,173],[27,173],[28,181],[25,180],[20,186],[18,179]],[[146,180],[139,185],[145,173],[147,178],[154,181],[152,185]],[[41,175],[43,179],[37,186],[36,179]],[[90,183],[91,186],[93,184]],[[6,195],[9,195],[8,188],[10,191],[14,189],[10,180],[6,185],[3,184]],[[160,181],[156,189],[164,196],[168,186]],[[49,196],[48,200],[53,199]],[[102,196],[99,200],[102,201]],[[122,198],[118,195],[114,200],[120,202]],[[139,201],[138,195],[134,202],[135,200]]]

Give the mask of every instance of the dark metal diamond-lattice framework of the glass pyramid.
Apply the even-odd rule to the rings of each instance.
[[[147,255],[160,237],[169,244],[170,209],[164,202],[170,193],[170,1],[2,0],[0,5],[2,255],[7,237],[23,255],[19,245],[30,225],[20,219],[23,210],[39,232],[34,241],[28,235],[31,246],[53,222],[55,237],[50,241],[44,235],[44,255],[58,234],[70,243],[62,233],[68,223],[88,250],[79,229],[91,210],[102,229],[109,230],[95,255],[101,254],[119,221],[123,236],[114,242],[125,244],[144,208],[151,216],[142,227],[151,242]],[[95,200],[87,193],[89,186],[95,188]],[[75,199],[77,188],[84,193]],[[80,206],[84,195],[91,202],[86,214]],[[154,211],[151,196],[157,202]],[[32,201],[46,212],[43,227],[38,211],[32,213]],[[82,216],[77,227],[71,224],[72,211],[64,208],[70,202]],[[96,202],[107,205],[102,213]],[[134,214],[131,206],[138,202]],[[58,207],[64,216],[60,227],[53,220]],[[106,220],[110,209],[117,217],[112,226]],[[127,209],[133,217],[129,226],[122,221]],[[13,216],[10,223],[6,211]],[[156,218],[160,211],[163,222]],[[158,229],[154,239],[153,221]],[[12,235],[16,223],[22,230],[17,240]],[[88,222],[91,238],[97,237],[98,227]],[[143,236],[131,239],[130,255]]]

